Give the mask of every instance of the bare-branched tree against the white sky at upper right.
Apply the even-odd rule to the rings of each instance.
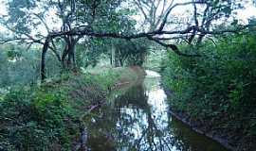
[[[206,35],[222,34],[229,31],[225,28],[229,28],[232,21],[227,23],[224,20],[234,17],[232,16],[233,10],[243,8],[243,5],[247,3],[236,0],[192,0],[184,3],[176,3],[175,0],[134,0],[134,2],[144,18],[143,26],[148,26],[148,31],[155,30],[157,27],[162,30],[188,29],[184,30],[184,33],[167,33],[164,38],[158,40],[179,40],[189,44],[192,44],[193,41],[195,41],[194,43],[202,42]],[[182,13],[185,16],[175,10],[175,8],[182,7],[184,8]],[[172,13],[173,11],[174,13]],[[220,20],[220,23],[216,23]],[[210,32],[218,30],[218,25],[224,25],[225,31]],[[239,31],[239,28],[233,28],[233,31]]]

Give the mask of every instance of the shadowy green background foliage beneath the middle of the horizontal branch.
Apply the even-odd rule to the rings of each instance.
[[[103,59],[108,60],[106,64],[112,66],[141,66],[149,53],[150,42],[141,39],[139,41],[126,41],[116,39],[92,38],[86,44],[77,46],[77,63],[80,67],[97,66]],[[113,50],[114,49],[114,50]],[[113,51],[115,54],[113,56]],[[112,58],[113,62],[112,62]]]

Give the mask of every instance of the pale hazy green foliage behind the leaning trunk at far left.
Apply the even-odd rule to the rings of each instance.
[[[41,58],[38,47],[25,51],[24,45],[9,43],[0,45],[0,88],[36,83]],[[53,56],[47,56],[47,76],[60,73],[60,66]]]

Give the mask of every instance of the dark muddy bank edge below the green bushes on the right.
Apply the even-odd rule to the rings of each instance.
[[[164,84],[162,84],[162,86],[168,95],[168,98],[172,98],[174,92],[168,89]],[[181,121],[185,125],[190,126],[196,133],[204,135],[211,140],[222,144],[230,151],[255,151],[256,143],[253,138],[247,139],[246,135],[239,132],[229,130],[229,128],[226,127],[214,125],[213,119],[202,120],[199,118],[194,118],[188,112],[175,109],[172,106],[170,107],[169,112],[174,118]],[[226,123],[229,122],[226,121]]]

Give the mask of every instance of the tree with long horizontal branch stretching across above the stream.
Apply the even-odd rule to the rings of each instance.
[[[17,10],[11,6],[20,6]],[[129,21],[130,13],[128,5],[137,5],[137,11],[140,10],[144,14],[145,24],[149,23],[149,29],[144,31],[122,30],[123,21]],[[149,41],[156,42],[166,48],[171,48],[176,54],[194,57],[198,54],[186,54],[179,51],[173,40],[182,40],[185,42],[202,42],[207,35],[220,35],[226,32],[238,32],[247,27],[247,25],[235,26],[234,28],[217,27],[216,20],[222,22],[224,18],[230,16],[231,11],[237,6],[235,0],[192,0],[183,3],[166,0],[51,0],[51,1],[18,1],[11,0],[9,2],[9,12],[14,15],[7,17],[2,23],[13,31],[14,37],[11,40],[18,40],[29,43],[43,44],[41,76],[42,80],[46,78],[46,52],[48,49],[53,50],[56,57],[63,62],[64,66],[75,66],[75,45],[79,40],[91,38],[115,38],[131,41],[135,39],[146,38]],[[49,7],[51,6],[51,7]],[[125,7],[126,6],[126,7]],[[189,22],[182,23],[180,18],[174,19],[174,11],[177,8],[192,7],[192,15],[188,17]],[[39,14],[32,13],[33,10],[40,9]],[[32,30],[37,25],[46,25],[46,13],[50,9],[56,10],[58,18],[62,21],[62,30],[47,30],[46,36],[31,36]],[[160,11],[158,10],[160,9]],[[157,14],[160,12],[159,14]],[[172,14],[173,13],[173,14]],[[25,16],[25,17],[24,17]],[[35,22],[35,16],[38,22]],[[14,18],[18,19],[17,23]],[[176,21],[177,23],[175,23]],[[131,21],[131,20],[130,20]],[[40,23],[40,24],[39,24]],[[127,22],[131,24],[132,22]],[[227,24],[227,22],[226,22]],[[11,26],[18,28],[11,28]],[[133,24],[132,24],[133,25]],[[119,30],[117,30],[117,26]],[[46,27],[49,29],[49,27]],[[196,38],[196,39],[195,39]],[[64,51],[62,58],[58,55],[55,42],[59,39],[64,40]],[[4,41],[9,42],[9,41]]]

